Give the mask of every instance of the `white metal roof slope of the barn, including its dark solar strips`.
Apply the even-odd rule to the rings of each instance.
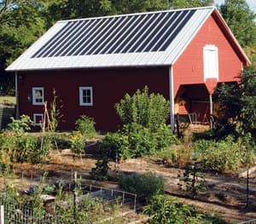
[[[59,21],[7,71],[171,65],[215,8]]]

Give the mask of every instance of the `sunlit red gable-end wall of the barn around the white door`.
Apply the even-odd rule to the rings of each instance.
[[[207,44],[218,47],[218,82],[238,80],[237,76],[242,66],[241,60],[213,16],[212,14],[207,19],[173,66],[175,95],[181,84],[204,83],[203,47]]]

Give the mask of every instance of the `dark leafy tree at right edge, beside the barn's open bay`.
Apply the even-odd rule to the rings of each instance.
[[[224,113],[224,118],[218,121],[218,134],[255,135],[256,69],[253,66],[248,67],[242,72],[240,83],[222,84],[216,95],[220,111]]]

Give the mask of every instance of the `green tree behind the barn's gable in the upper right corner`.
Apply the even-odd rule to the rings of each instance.
[[[256,14],[245,0],[225,0],[220,13],[242,47],[256,45]]]

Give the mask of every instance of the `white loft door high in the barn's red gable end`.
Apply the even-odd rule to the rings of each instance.
[[[203,49],[204,55],[204,81],[207,78],[218,80],[218,47],[208,44]]]

